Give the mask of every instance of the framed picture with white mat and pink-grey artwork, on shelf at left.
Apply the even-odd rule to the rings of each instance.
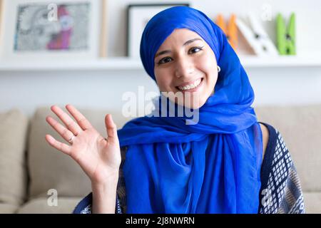
[[[1,57],[96,58],[101,51],[97,0],[4,1]]]

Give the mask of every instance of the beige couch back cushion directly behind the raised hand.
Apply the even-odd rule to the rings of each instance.
[[[66,111],[66,108],[61,105],[60,107]],[[118,112],[81,108],[78,108],[78,110],[88,118],[91,124],[104,137],[106,137],[104,118],[107,113],[113,115],[113,120],[118,128],[121,128],[127,120],[122,118],[122,115],[119,115]],[[81,167],[71,157],[56,150],[46,142],[45,135],[50,134],[57,140],[68,143],[46,123],[47,115],[51,115],[58,120],[50,107],[38,108],[34,118],[31,120],[28,150],[31,180],[30,197],[44,197],[50,189],[57,190],[59,197],[84,197],[88,192],[91,192],[91,182],[83,170],[81,170]],[[60,120],[59,122],[62,123]]]

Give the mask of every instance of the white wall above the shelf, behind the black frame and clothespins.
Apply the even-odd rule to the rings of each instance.
[[[123,34],[126,31],[126,5],[127,4],[143,4],[151,2],[165,2],[165,3],[178,3],[186,2],[182,0],[168,0],[168,1],[146,1],[146,0],[109,0],[109,29],[113,36],[109,37],[108,41],[108,53],[111,56],[123,56],[126,52],[125,43],[126,37]],[[297,24],[297,49],[300,53],[310,54],[319,53],[321,51],[321,42],[317,42],[316,39],[321,37],[321,2],[318,0],[195,0],[188,1],[191,6],[196,9],[200,9],[205,14],[210,16],[211,19],[215,18],[218,13],[222,13],[224,16],[230,16],[230,13],[235,13],[238,16],[245,16],[248,11],[254,11],[255,14],[260,16],[260,12],[263,14],[265,5],[271,7],[272,19],[274,16],[281,12],[282,15],[287,17],[292,11],[296,14]],[[115,21],[115,22],[113,22]],[[264,22],[263,22],[264,23]],[[265,21],[265,28],[267,32],[272,36],[275,41],[274,35],[274,21]]]

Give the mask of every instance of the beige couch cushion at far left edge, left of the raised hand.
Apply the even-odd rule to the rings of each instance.
[[[28,118],[19,109],[0,113],[0,202],[4,204],[21,204],[26,198],[27,130]]]

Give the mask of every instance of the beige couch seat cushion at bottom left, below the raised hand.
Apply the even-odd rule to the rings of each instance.
[[[58,197],[57,205],[48,204],[46,197],[31,199],[22,205],[18,214],[71,214],[80,197]],[[51,205],[51,206],[50,206]]]

